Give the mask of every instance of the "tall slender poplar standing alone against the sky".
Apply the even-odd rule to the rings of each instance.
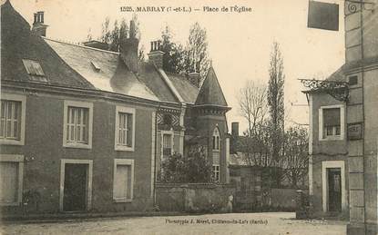
[[[284,131],[284,100],[283,86],[285,75],[283,73],[283,58],[280,45],[273,43],[271,63],[269,69],[268,105],[271,114],[271,148],[273,162],[278,166],[280,162]]]

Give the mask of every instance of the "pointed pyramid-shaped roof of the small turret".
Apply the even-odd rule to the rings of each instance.
[[[214,105],[227,107],[226,99],[220,88],[217,75],[212,66],[209,67],[205,81],[199,90],[199,95],[195,102],[196,105]]]

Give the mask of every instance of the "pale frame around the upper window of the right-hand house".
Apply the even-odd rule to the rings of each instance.
[[[340,108],[340,135],[323,136],[323,110]],[[319,109],[319,141],[342,141],[345,135],[345,106],[343,104],[321,106]]]

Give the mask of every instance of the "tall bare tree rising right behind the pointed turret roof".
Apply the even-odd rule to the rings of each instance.
[[[205,28],[199,23],[191,25],[185,54],[186,72],[198,72],[202,79],[209,70],[208,39]]]

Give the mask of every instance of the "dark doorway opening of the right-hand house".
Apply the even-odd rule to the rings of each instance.
[[[328,210],[342,211],[342,172],[340,168],[329,168],[328,171]]]

